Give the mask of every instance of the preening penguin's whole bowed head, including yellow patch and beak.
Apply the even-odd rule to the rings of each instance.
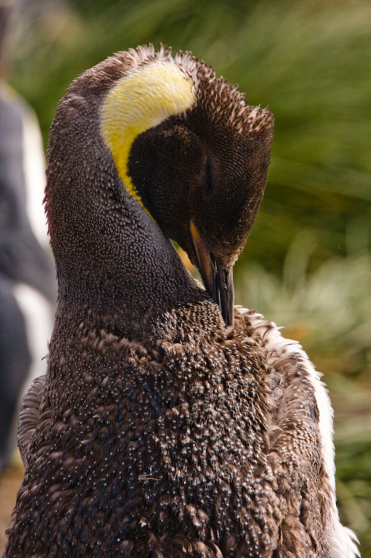
[[[97,106],[123,192],[188,253],[232,324],[232,266],[264,192],[271,112],[190,52],[152,45],[98,64],[69,94]]]

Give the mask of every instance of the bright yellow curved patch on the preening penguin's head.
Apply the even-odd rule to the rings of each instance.
[[[135,138],[195,100],[194,85],[174,63],[155,61],[125,75],[109,91],[101,109],[101,130],[129,195],[143,202],[128,175]]]

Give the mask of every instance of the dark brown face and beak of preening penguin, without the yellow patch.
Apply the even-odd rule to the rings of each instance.
[[[136,137],[128,174],[164,234],[198,267],[227,325],[233,322],[232,266],[265,189],[273,117],[190,54],[175,68],[190,104]]]

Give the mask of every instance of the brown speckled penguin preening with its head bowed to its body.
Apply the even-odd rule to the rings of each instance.
[[[4,557],[357,555],[319,375],[234,307],[272,131],[269,110],[164,47],[112,56],[61,100],[46,192],[58,310],[22,406]]]

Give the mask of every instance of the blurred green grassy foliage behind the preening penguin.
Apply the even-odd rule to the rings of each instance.
[[[70,0],[19,14],[10,82],[47,142],[56,103],[112,52],[191,50],[276,117],[236,300],[299,338],[331,389],[340,513],[371,557],[371,4]]]

